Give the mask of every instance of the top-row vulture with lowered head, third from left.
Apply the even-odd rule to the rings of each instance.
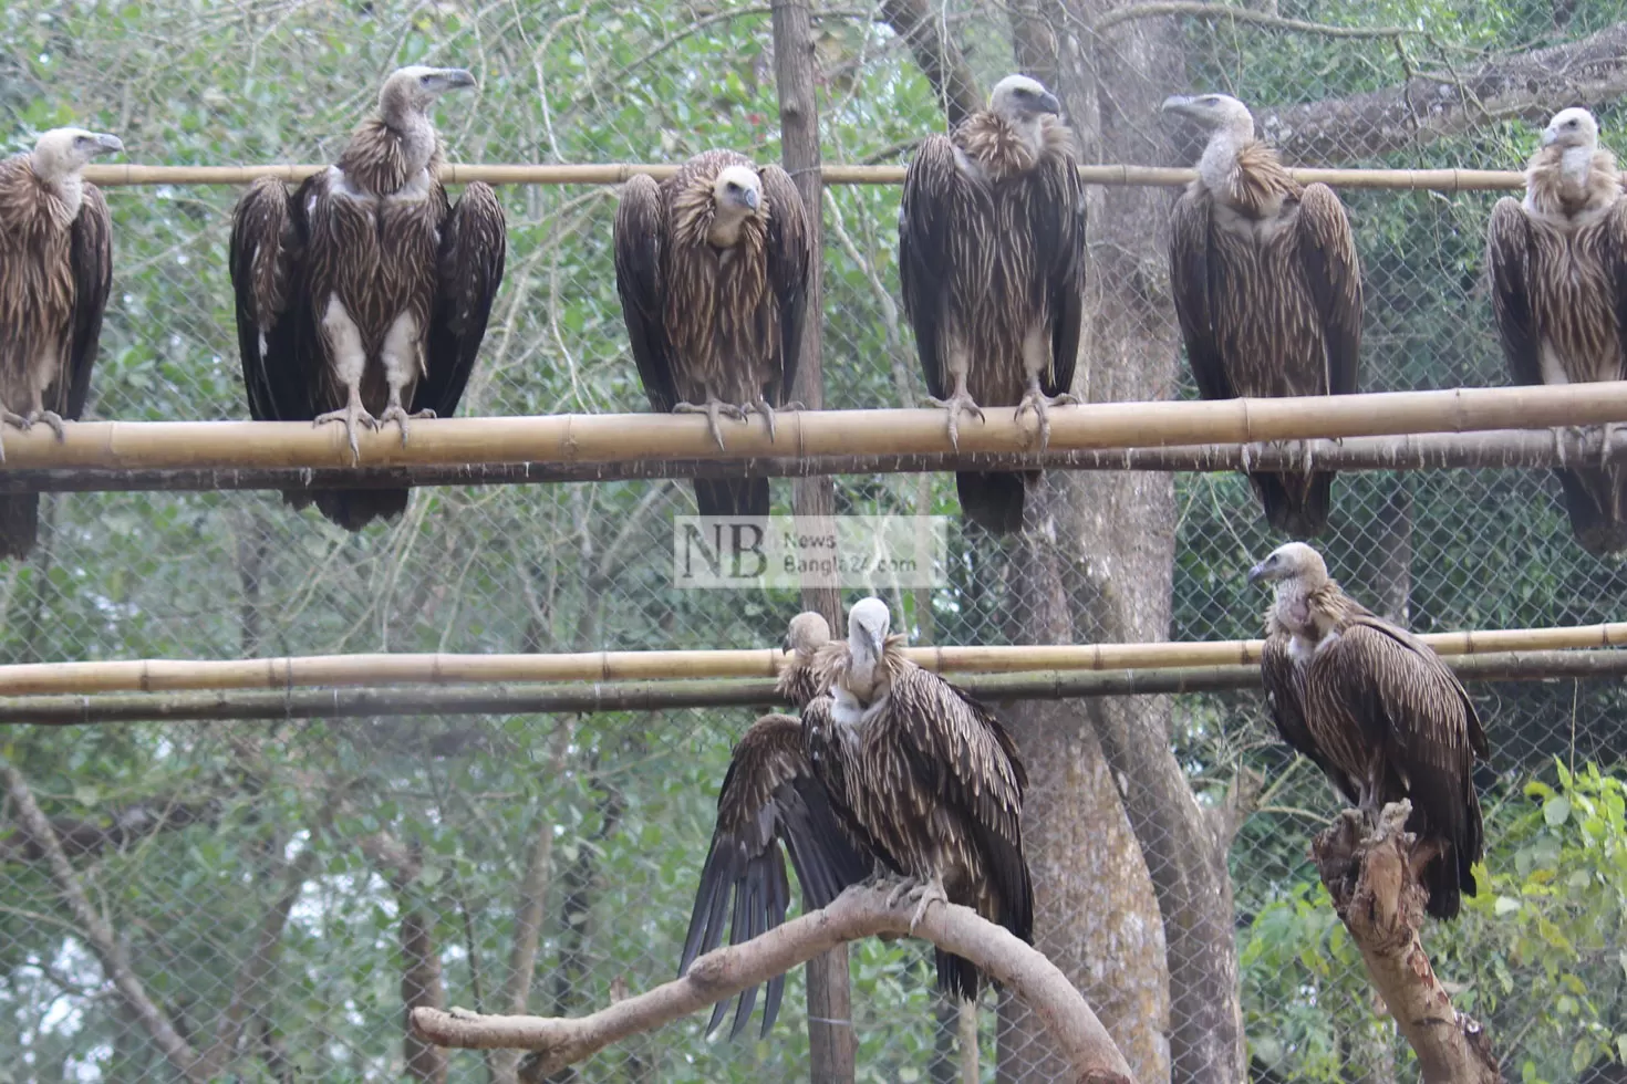
[[[779,166],[704,151],[656,184],[638,176],[615,213],[615,284],[651,408],[757,411],[774,434],[796,380],[814,262],[802,195]],[[695,479],[701,515],[768,515],[766,478]]]

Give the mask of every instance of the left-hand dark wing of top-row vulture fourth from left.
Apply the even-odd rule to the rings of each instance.
[[[947,135],[931,135],[909,163],[898,206],[898,280],[934,398],[949,395],[949,244],[965,184],[955,145]]]

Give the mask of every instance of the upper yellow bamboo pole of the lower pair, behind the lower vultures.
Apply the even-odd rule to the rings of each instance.
[[[1442,655],[1552,652],[1627,645],[1627,622],[1552,629],[1433,632]],[[1154,670],[1259,661],[1259,640],[1079,644],[1051,647],[911,647],[906,655],[942,673],[1033,670]],[[294,689],[364,684],[480,684],[504,681],[657,681],[773,678],[778,648],[714,652],[579,652],[569,655],[296,655],[239,660],[143,658],[0,666],[0,696],[171,692],[182,689]]]

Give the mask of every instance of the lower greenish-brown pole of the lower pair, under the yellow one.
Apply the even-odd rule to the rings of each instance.
[[[1464,681],[1598,679],[1627,674],[1627,652],[1495,652],[1448,665]],[[1040,670],[955,674],[984,700],[1064,700],[1258,689],[1259,666],[1158,670]],[[290,689],[285,692],[130,692],[0,697],[0,725],[86,726],[137,722],[257,718],[400,718],[410,715],[542,715],[661,712],[696,707],[768,707],[768,678],[716,681],[612,681],[592,684],[462,686],[457,689]]]

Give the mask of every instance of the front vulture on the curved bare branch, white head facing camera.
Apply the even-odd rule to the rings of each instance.
[[[971,696],[921,670],[888,637],[887,603],[866,598],[848,613],[848,639],[815,658],[820,696],[804,730],[830,728],[846,793],[827,785],[883,868],[919,895],[975,908],[1033,943],[1033,884],[1022,843],[1027,772],[999,720]],[[944,993],[976,998],[970,962],[937,952]]]

